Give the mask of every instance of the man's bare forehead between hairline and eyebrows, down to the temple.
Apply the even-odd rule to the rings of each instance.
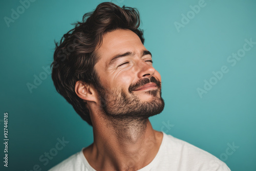
[[[103,35],[102,45],[96,50],[100,58],[96,65],[105,68],[113,56],[125,52],[140,54],[141,50],[146,49],[133,31],[118,29],[108,32]]]

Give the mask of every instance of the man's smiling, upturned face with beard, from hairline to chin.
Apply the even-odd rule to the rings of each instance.
[[[146,119],[163,111],[161,76],[153,68],[151,53],[131,30],[118,29],[103,36],[96,50],[101,107],[106,116]]]

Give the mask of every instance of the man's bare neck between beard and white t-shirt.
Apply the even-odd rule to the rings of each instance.
[[[163,135],[153,130],[148,119],[106,121],[98,117],[92,121],[94,142],[84,156],[94,169],[138,170],[155,158]]]

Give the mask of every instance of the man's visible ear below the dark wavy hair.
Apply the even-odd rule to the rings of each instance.
[[[78,97],[86,101],[97,102],[97,93],[93,86],[88,85],[82,81],[77,81],[75,85],[75,92]]]

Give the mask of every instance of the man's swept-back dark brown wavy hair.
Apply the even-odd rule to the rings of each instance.
[[[75,93],[75,84],[82,81],[99,90],[100,84],[94,66],[99,60],[95,48],[102,44],[102,36],[116,29],[129,29],[136,33],[144,44],[143,30],[139,29],[140,17],[136,8],[122,8],[105,2],[93,12],[83,15],[82,22],[74,24],[55,42],[54,60],[51,64],[52,80],[57,92],[62,95],[80,115],[92,125],[86,101]]]

